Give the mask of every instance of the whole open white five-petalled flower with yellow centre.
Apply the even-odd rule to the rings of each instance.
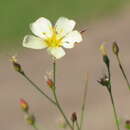
[[[80,32],[73,30],[75,21],[60,17],[55,26],[41,17],[30,25],[33,35],[26,35],[23,46],[32,49],[47,48],[49,54],[59,59],[65,55],[64,48],[73,48],[75,43],[82,41]]]

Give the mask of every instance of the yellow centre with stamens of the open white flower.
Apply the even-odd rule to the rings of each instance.
[[[53,31],[53,34],[50,38],[47,38],[45,40],[46,44],[48,47],[60,47],[62,45],[62,38],[59,38],[57,32],[56,32],[56,29],[55,28],[52,28],[52,31]]]

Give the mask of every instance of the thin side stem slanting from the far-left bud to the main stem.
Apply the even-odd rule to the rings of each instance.
[[[25,73],[21,74],[32,86],[39,91],[43,96],[45,96],[51,103],[56,105],[55,101],[53,101],[50,97],[48,97]]]

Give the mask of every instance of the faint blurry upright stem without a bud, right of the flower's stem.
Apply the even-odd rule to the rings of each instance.
[[[82,103],[82,107],[81,107],[81,117],[80,117],[80,130],[82,130],[83,120],[84,120],[84,111],[85,111],[85,106],[86,106],[87,88],[88,88],[88,79],[87,79],[85,87],[84,87],[83,103]]]

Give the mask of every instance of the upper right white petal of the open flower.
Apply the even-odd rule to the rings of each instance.
[[[65,17],[60,17],[56,22],[56,31],[61,37],[64,37],[67,33],[71,32],[75,27],[75,21]]]

